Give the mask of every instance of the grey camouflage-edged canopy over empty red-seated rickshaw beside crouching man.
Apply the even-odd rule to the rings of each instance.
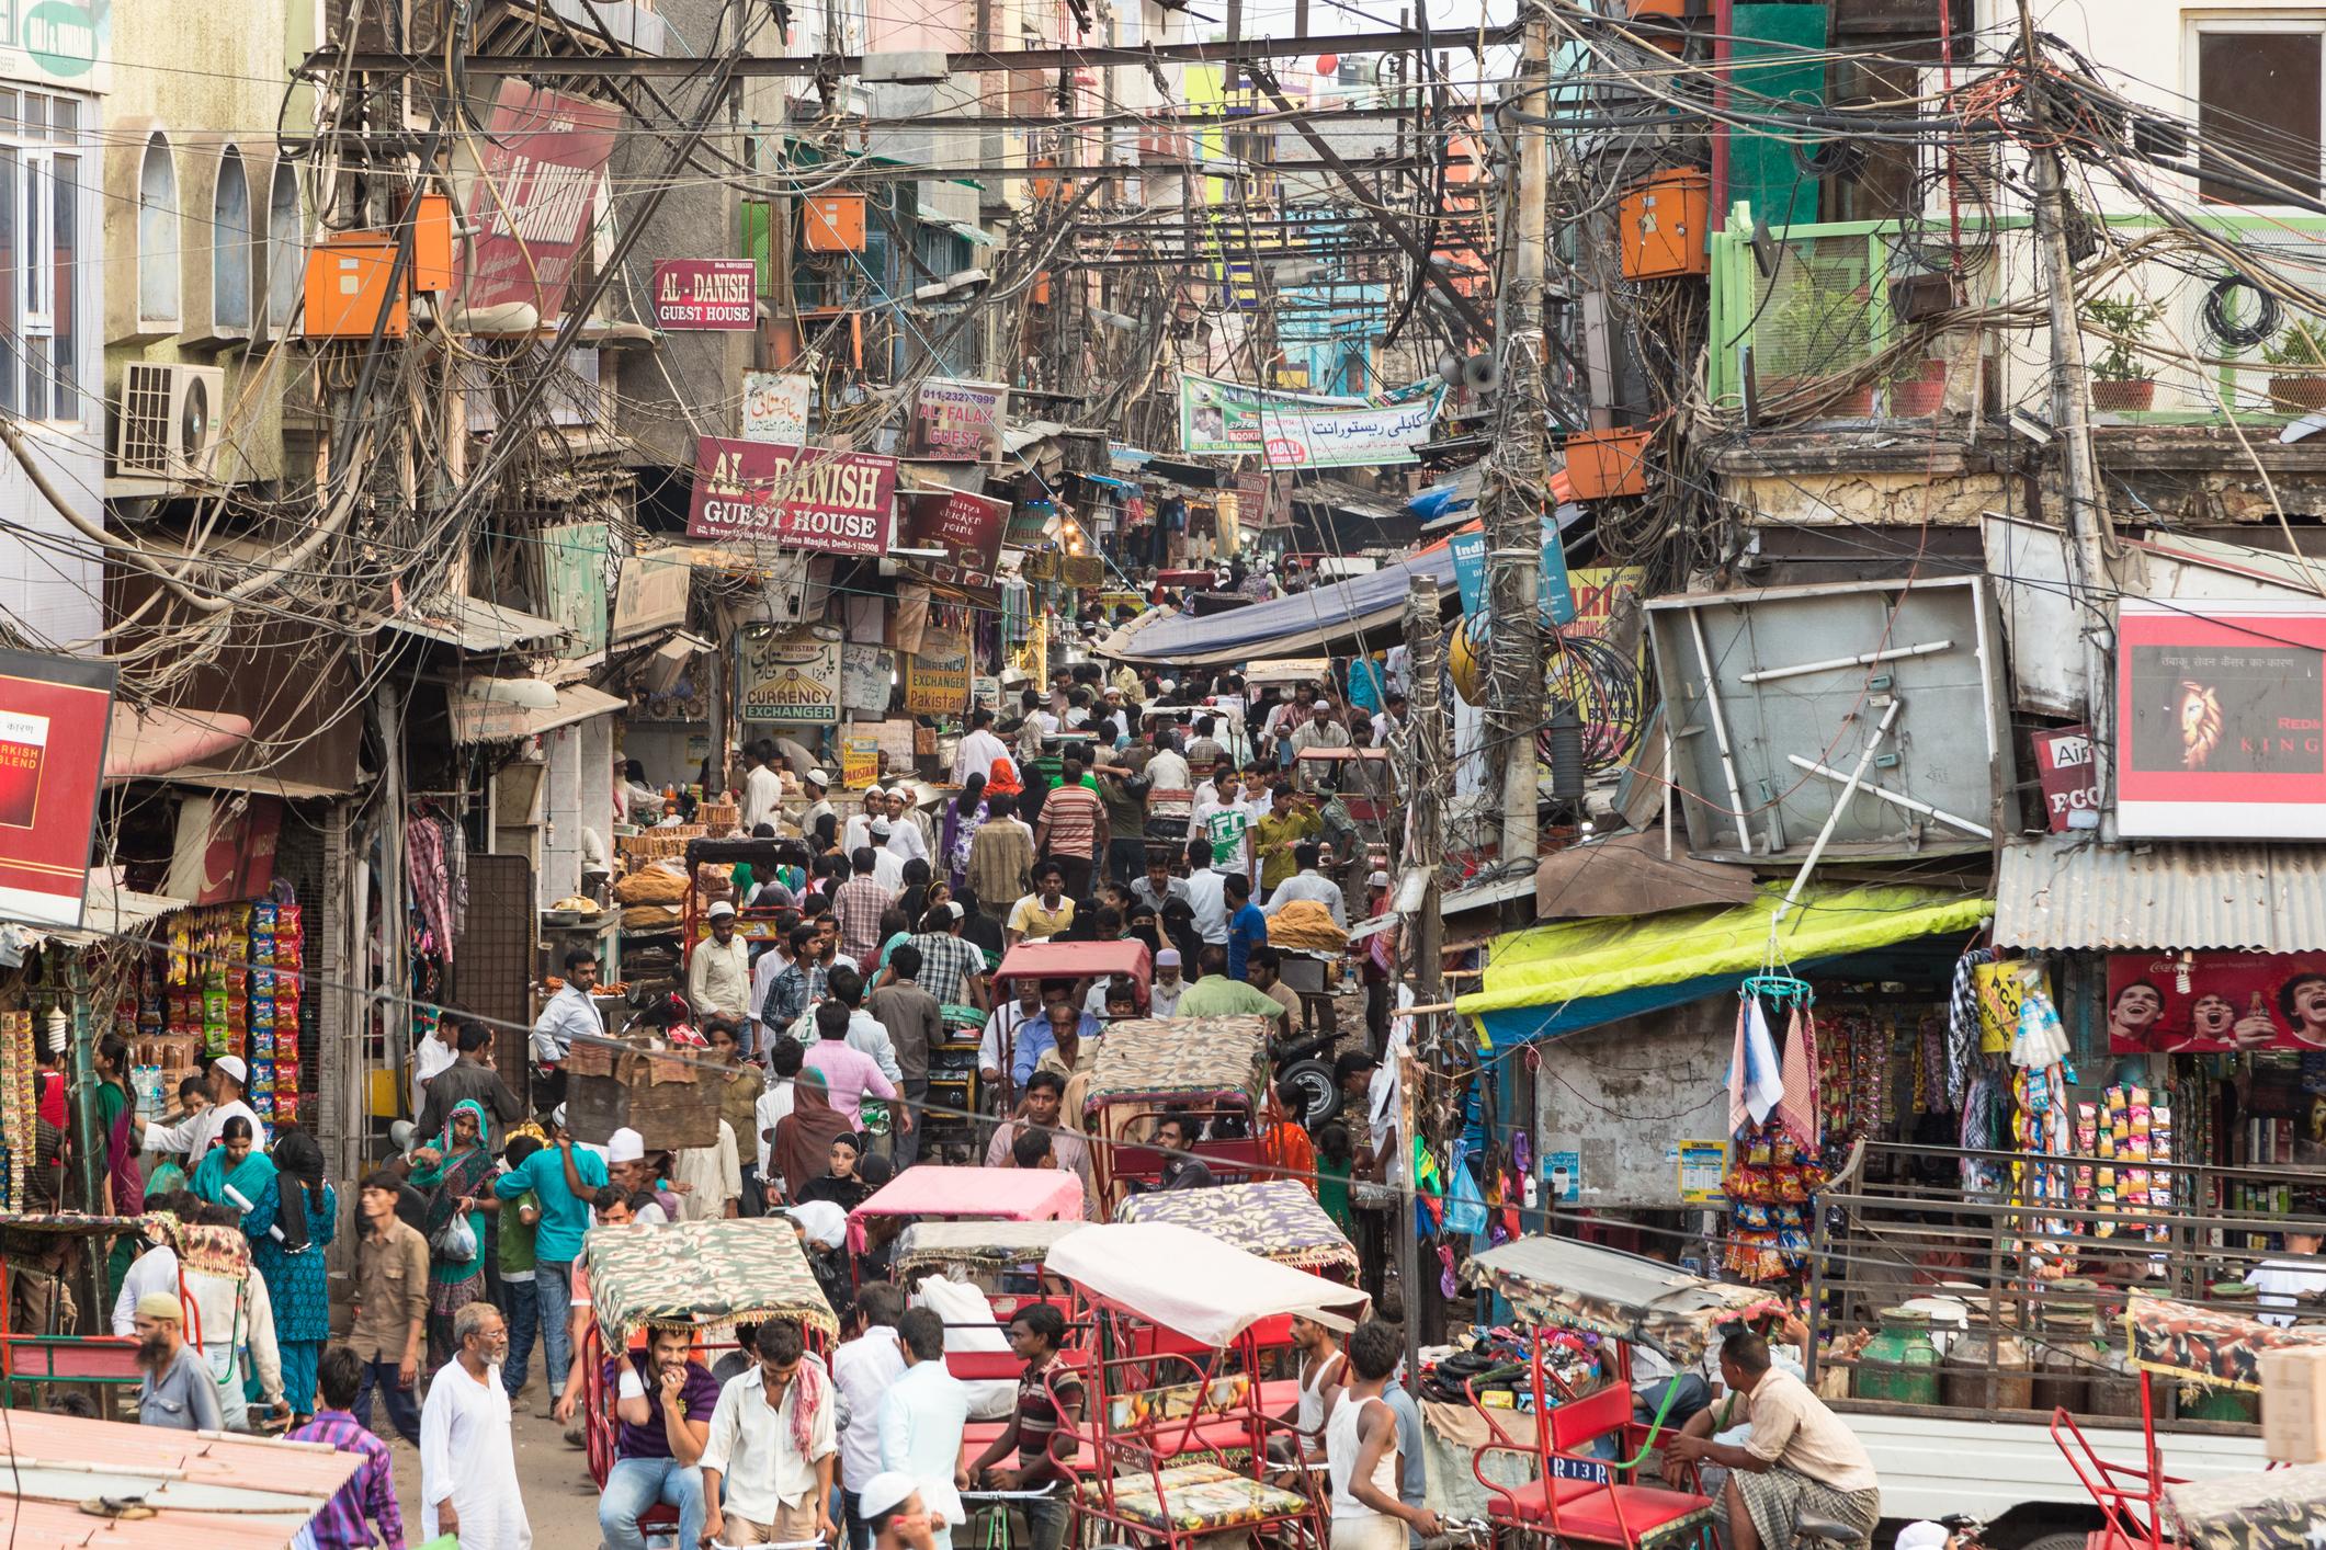
[[[1572,1239],[1512,1239],[1463,1273],[1507,1297],[1521,1320],[1651,1346],[1672,1366],[1693,1366],[1721,1325],[1784,1306],[1758,1287]]]

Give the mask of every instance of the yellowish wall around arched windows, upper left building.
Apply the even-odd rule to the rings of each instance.
[[[284,476],[281,397],[302,358],[274,360],[267,349],[267,256],[277,239],[270,195],[277,179],[274,123],[284,107],[291,63],[288,0],[214,5],[209,0],[137,0],[114,7],[114,93],[105,119],[105,390],[112,402],[121,369],[130,360],[165,360],[226,367],[226,400],[219,421],[226,458],[223,481]],[[312,9],[312,7],[307,7]],[[300,19],[305,35],[312,16]],[[188,70],[200,60],[200,70]],[[288,119],[286,130],[305,123]],[[140,253],[140,163],[160,135],[177,177],[174,251]],[[219,172],[240,163],[249,181],[251,218],[244,232],[214,221]],[[295,177],[295,170],[286,165]],[[284,221],[286,253],[279,272],[300,284],[298,249],[309,225],[305,200],[298,221]],[[254,297],[251,325],[221,325],[212,307],[219,244],[247,244]],[[140,323],[140,263],[172,265],[179,277],[179,309],[172,325]],[[109,435],[109,432],[107,432]]]

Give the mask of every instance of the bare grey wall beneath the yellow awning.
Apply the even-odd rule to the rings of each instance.
[[[1670,1148],[1728,1134],[1735,1009],[1735,997],[1707,997],[1537,1046],[1537,1167],[1554,1153],[1579,1153],[1577,1206],[1679,1206]]]

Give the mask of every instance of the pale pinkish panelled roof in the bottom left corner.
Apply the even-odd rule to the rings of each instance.
[[[319,1443],[9,1411],[0,1524],[16,1550],[279,1550],[363,1464]],[[261,1485],[263,1483],[263,1485]],[[84,1501],[133,1501],[107,1517]]]

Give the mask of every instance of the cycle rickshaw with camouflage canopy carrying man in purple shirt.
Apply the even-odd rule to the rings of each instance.
[[[791,1320],[819,1355],[840,1339],[840,1320],[791,1218],[591,1227],[584,1255],[595,1320],[582,1350],[582,1380],[588,1471],[600,1487],[614,1469],[614,1390],[605,1383],[605,1362],[647,1329],[695,1332],[695,1355],[705,1364],[735,1348],[737,1325]],[[658,1506],[640,1527],[675,1522],[677,1515]]]

